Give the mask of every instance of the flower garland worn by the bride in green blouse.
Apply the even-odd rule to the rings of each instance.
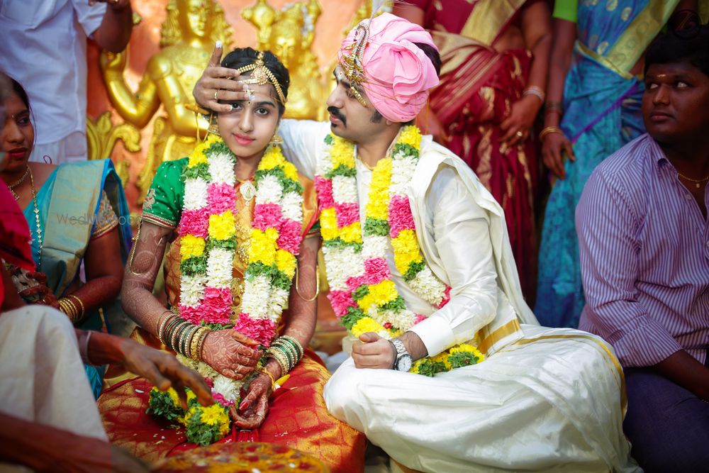
[[[184,207],[178,227],[179,315],[216,330],[233,324],[235,330],[268,347],[277,335],[277,324],[296,272],[302,240],[303,187],[296,168],[285,160],[281,149],[269,146],[255,174],[256,202],[245,243],[244,289],[240,306],[233,307],[232,272],[238,246],[236,159],[216,135],[209,135],[189,156],[183,173]],[[189,441],[203,445],[214,442],[228,432],[228,407],[238,404],[240,389],[250,379],[236,381],[205,362],[182,355],[178,359],[205,377],[226,416],[194,401],[176,418],[186,425]],[[160,391],[150,394],[152,412],[174,413],[179,402],[172,398],[177,394],[165,397],[167,394],[156,393]]]

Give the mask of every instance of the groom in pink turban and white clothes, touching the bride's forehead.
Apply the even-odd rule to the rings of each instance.
[[[248,96],[220,54],[194,96],[228,111]],[[342,42],[330,123],[281,123],[284,154],[315,177],[330,300],[358,337],[328,409],[410,469],[633,471],[618,360],[538,326],[501,207],[410,126],[439,67],[428,32],[384,13]]]

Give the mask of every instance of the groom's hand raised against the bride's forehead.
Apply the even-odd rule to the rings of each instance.
[[[206,69],[202,72],[192,95],[194,100],[202,108],[211,111],[230,111],[230,104],[220,104],[219,101],[248,100],[249,93],[242,91],[244,84],[231,80],[234,77],[234,69],[221,67],[219,65],[222,55],[221,43],[214,45],[212,57],[209,59]]]

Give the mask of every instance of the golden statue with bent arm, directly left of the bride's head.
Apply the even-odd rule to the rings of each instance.
[[[145,166],[138,176],[138,204],[143,203],[160,163],[189,155],[198,133],[203,135],[206,130],[207,121],[196,117],[187,106],[194,106],[192,88],[209,61],[214,43],[220,40],[228,48],[232,31],[214,0],[169,0],[160,33],[161,50],[148,61],[135,92],[123,78],[125,52],[101,52],[108,96],[125,121],[144,128],[161,104],[164,108],[164,114],[153,124]]]

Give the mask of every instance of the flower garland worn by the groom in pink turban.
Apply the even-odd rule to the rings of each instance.
[[[450,286],[432,273],[421,254],[406,187],[418,165],[421,134],[401,129],[392,156],[377,162],[365,206],[359,216],[354,144],[333,134],[330,152],[318,161],[315,186],[320,208],[328,298],[340,323],[355,337],[375,332],[391,339],[426,316],[406,308],[386,262],[389,241],[403,280],[422,299],[441,308],[450,301]],[[484,360],[472,345],[461,344],[435,357],[417,360],[411,372],[432,376]]]

